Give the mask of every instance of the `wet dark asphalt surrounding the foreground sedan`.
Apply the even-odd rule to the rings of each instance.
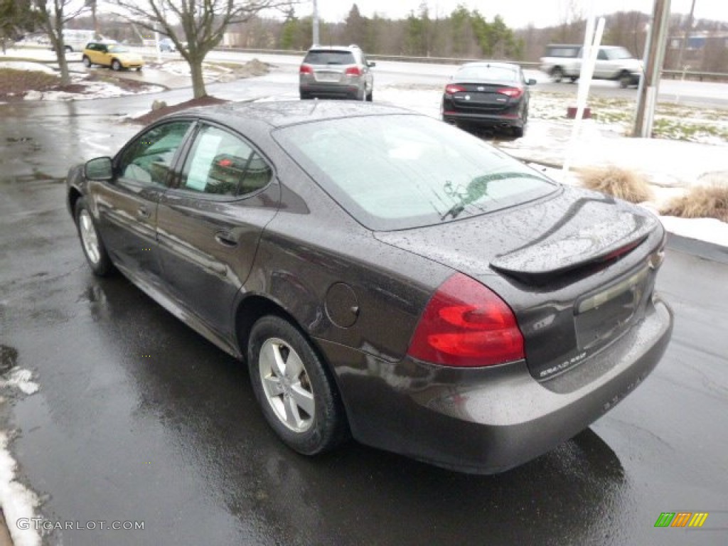
[[[31,128],[0,111],[1,368],[40,386],[4,389],[0,417],[39,513],[75,523],[47,544],[728,542],[724,251],[670,243],[667,355],[590,430],[523,467],[462,475],[353,442],[307,459],[266,427],[243,365],[123,277],[92,276],[49,178],[93,155],[89,139],[108,153],[136,127],[48,112]],[[61,138],[68,127],[76,138]],[[655,529],[663,512],[709,516],[700,530]],[[75,529],[98,521],[143,529]]]

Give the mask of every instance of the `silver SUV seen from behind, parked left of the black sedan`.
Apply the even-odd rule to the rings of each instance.
[[[298,92],[306,98],[372,100],[376,63],[366,59],[360,47],[314,46],[298,71]]]

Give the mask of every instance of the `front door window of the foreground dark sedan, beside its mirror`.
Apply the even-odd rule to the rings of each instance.
[[[168,122],[144,132],[124,150],[117,165],[121,178],[167,186],[172,162],[191,121]]]

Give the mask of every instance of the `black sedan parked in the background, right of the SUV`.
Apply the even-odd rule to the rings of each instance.
[[[529,85],[511,63],[466,63],[443,92],[443,120],[464,129],[510,130],[523,136],[529,119]]]

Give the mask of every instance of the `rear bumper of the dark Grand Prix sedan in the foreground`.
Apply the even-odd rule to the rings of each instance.
[[[366,355],[361,367],[352,367],[353,355],[344,355],[349,349],[322,348],[334,364],[357,440],[440,467],[490,474],[549,451],[614,407],[657,365],[672,327],[669,307],[656,301],[609,350],[543,383],[525,361],[456,369]]]

